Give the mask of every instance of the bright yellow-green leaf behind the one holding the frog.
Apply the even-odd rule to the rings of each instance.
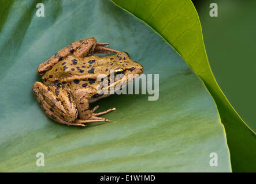
[[[255,133],[229,104],[214,79],[207,60],[201,24],[189,0],[113,0],[133,16],[149,25],[183,57],[203,80],[216,102],[227,132],[233,171],[256,171]],[[218,53],[216,53],[218,54]]]

